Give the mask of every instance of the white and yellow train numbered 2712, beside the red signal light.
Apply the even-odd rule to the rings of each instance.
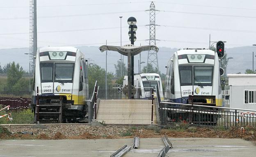
[[[222,106],[219,58],[208,49],[183,49],[167,65],[165,101]]]

